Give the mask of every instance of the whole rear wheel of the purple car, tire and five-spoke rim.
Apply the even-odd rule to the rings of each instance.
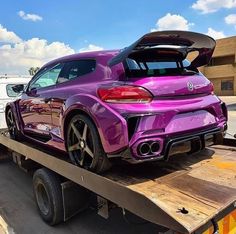
[[[110,169],[111,162],[89,117],[83,114],[73,116],[66,136],[67,151],[74,164],[99,174]]]

